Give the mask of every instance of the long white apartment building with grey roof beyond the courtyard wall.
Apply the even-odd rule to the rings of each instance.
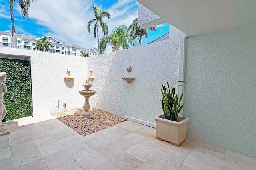
[[[97,47],[86,49],[78,45],[71,43],[58,41],[52,36],[46,36],[48,42],[51,43],[50,51],[45,51],[48,53],[58,53],[63,55],[80,55],[80,51],[88,53],[89,56],[98,55]],[[43,37],[42,37],[43,38]],[[17,34],[17,45],[18,49],[26,50],[36,50],[36,42],[40,40],[41,37],[36,37],[32,35]],[[12,30],[0,31],[0,47],[12,47]]]

